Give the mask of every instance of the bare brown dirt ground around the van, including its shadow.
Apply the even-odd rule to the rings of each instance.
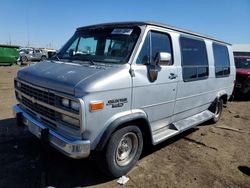
[[[0,67],[0,187],[119,187],[95,166],[68,159],[16,126],[13,78]],[[231,102],[216,125],[203,124],[147,146],[125,187],[250,187],[250,101]]]

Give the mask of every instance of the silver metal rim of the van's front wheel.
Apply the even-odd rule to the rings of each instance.
[[[127,133],[121,138],[116,150],[116,163],[125,166],[130,163],[138,150],[138,138],[135,133]]]

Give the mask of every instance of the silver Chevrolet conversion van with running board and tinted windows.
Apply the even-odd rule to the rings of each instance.
[[[71,158],[98,154],[126,174],[143,146],[220,119],[232,94],[231,45],[152,22],[80,27],[53,59],[19,70],[18,125]]]

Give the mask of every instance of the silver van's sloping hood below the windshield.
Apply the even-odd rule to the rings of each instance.
[[[36,86],[74,95],[75,86],[79,82],[105,69],[105,66],[43,61],[19,70],[17,78]]]

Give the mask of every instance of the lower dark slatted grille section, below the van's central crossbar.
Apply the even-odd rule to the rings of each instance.
[[[49,108],[46,108],[44,106],[41,106],[37,103],[32,103],[31,100],[25,98],[25,97],[22,97],[22,100],[21,100],[22,104],[24,106],[27,106],[28,108],[30,108],[30,110],[38,113],[38,114],[41,114],[51,120],[56,120],[56,112],[52,109],[49,109]]]

